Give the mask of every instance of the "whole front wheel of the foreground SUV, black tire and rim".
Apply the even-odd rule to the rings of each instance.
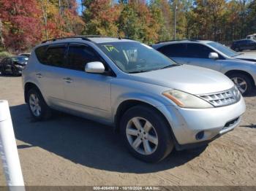
[[[146,122],[148,125],[145,125]],[[139,125],[135,126],[135,124]],[[147,163],[157,163],[173,150],[170,126],[156,109],[149,106],[134,106],[128,109],[121,117],[120,130],[129,152]],[[137,144],[137,149],[132,147],[132,144]],[[146,149],[144,144],[150,148]]]

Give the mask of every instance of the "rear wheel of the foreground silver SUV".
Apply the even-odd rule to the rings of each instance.
[[[32,88],[29,90],[27,96],[29,111],[35,120],[48,120],[52,116],[52,110],[45,103],[45,99],[42,97],[42,94],[39,92],[39,90],[37,90],[37,88]]]

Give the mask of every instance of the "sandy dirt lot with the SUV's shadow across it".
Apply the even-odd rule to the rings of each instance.
[[[26,185],[256,185],[256,91],[240,127],[158,164],[133,158],[111,128],[67,114],[33,122],[20,77],[0,77]],[[4,185],[0,171],[0,185]]]

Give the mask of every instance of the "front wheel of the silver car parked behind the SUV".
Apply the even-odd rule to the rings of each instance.
[[[228,75],[228,77],[234,82],[236,87],[238,87],[238,90],[240,90],[242,95],[248,95],[252,92],[254,85],[252,80],[246,74],[233,73]]]

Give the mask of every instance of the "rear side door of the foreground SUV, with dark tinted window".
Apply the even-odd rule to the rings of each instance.
[[[41,64],[37,65],[35,77],[51,106],[64,106],[64,81],[67,73],[67,44],[53,44],[36,50]]]

